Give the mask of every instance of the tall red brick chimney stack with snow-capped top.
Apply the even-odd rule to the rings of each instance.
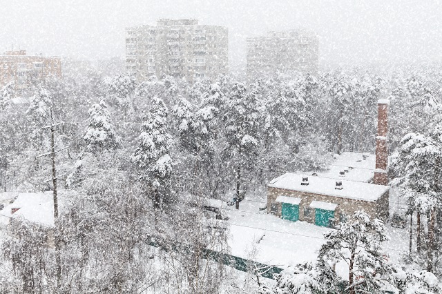
[[[378,135],[376,136],[376,170],[374,171],[374,181],[376,185],[387,185],[387,165],[388,165],[388,104],[387,99],[378,100]]]

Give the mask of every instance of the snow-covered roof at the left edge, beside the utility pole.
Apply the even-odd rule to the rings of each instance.
[[[53,201],[52,191],[46,193],[21,193],[14,203],[0,211],[0,215],[10,218],[22,217],[28,222],[53,227],[55,226]],[[12,210],[17,208],[19,209],[12,213]]]

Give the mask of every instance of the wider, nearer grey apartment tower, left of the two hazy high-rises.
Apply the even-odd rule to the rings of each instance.
[[[227,28],[196,19],[160,19],[157,26],[126,28],[126,72],[144,81],[151,75],[184,77],[193,84],[228,71]]]

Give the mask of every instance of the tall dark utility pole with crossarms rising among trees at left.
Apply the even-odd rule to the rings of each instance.
[[[54,243],[55,243],[55,293],[58,293],[59,288],[61,287],[61,255],[60,255],[60,249],[61,249],[61,239],[60,239],[60,228],[59,228],[59,213],[58,213],[58,194],[57,194],[57,168],[55,165],[55,154],[59,153],[61,150],[65,150],[68,147],[61,148],[59,150],[55,150],[55,127],[63,124],[62,122],[59,122],[57,124],[54,123],[54,113],[53,113],[53,102],[52,102],[52,108],[50,109],[50,126],[44,126],[41,128],[41,130],[50,129],[50,153],[45,153],[42,155],[37,156],[43,157],[50,155],[52,159],[52,179],[49,179],[49,181],[52,181],[53,189],[53,199],[54,199],[54,225],[55,225],[55,232],[54,232]],[[60,177],[62,177],[61,175]]]

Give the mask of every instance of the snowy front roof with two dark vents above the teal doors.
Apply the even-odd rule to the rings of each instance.
[[[336,181],[342,182],[342,190],[335,189]],[[296,173],[285,173],[273,179],[269,187],[295,190],[305,193],[329,195],[349,199],[359,199],[369,202],[376,201],[381,197],[389,186],[369,184],[365,182],[354,182],[345,179],[332,179],[328,177],[309,176],[309,184],[301,185],[302,175]]]

